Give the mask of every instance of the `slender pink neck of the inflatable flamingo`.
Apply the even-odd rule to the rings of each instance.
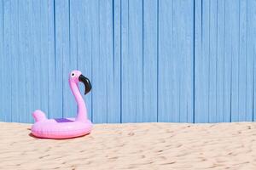
[[[76,82],[69,81],[69,86],[78,104],[78,113],[76,121],[86,122],[87,121],[87,109],[84,103],[84,99],[79,91],[79,84]]]

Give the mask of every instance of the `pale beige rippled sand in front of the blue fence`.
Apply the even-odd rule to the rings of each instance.
[[[99,124],[77,139],[36,139],[0,122],[0,169],[256,169],[256,123]]]

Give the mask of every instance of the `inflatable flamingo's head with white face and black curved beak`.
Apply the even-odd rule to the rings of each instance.
[[[76,84],[83,82],[85,87],[84,94],[88,94],[90,92],[90,80],[87,77],[84,77],[81,71],[71,71],[69,74],[69,82],[75,82]]]

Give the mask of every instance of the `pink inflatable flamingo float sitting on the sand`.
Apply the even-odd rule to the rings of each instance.
[[[69,139],[90,133],[92,123],[87,118],[84,99],[79,91],[79,82],[84,82],[84,94],[89,93],[90,80],[84,77],[80,71],[72,71],[68,82],[78,104],[77,116],[74,118],[47,119],[43,111],[34,111],[32,113],[35,119],[35,123],[32,125],[34,136],[48,139]]]

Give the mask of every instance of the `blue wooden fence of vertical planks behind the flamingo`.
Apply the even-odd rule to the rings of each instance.
[[[0,121],[236,122],[256,114],[255,0],[0,0]],[[82,87],[81,87],[82,88]]]

